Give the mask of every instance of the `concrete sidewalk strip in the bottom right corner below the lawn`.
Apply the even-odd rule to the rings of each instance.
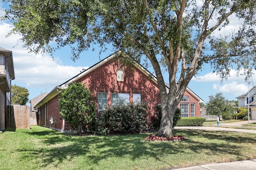
[[[256,159],[192,166],[188,168],[179,168],[176,170],[256,170]]]

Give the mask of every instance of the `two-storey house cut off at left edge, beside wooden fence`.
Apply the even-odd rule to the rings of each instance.
[[[0,47],[0,130],[5,129],[5,106],[11,105],[11,80],[14,80],[12,51]]]

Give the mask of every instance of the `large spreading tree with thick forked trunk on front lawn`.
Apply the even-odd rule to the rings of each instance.
[[[160,89],[159,136],[172,135],[176,107],[204,64],[221,78],[234,67],[245,68],[250,78],[256,66],[256,0],[6,1],[10,8],[4,20],[14,25],[10,34],[22,35],[24,46],[33,52],[70,45],[75,60],[91,45],[99,43],[104,51],[112,44],[137,62],[148,61]],[[237,32],[215,37],[230,20],[240,21]]]

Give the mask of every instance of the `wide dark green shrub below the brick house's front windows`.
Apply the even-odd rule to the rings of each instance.
[[[91,131],[98,135],[142,132],[148,123],[146,109],[145,102],[113,106],[102,113]]]

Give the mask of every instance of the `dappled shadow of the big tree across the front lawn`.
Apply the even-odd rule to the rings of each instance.
[[[84,157],[88,166],[99,164],[101,160],[108,160],[111,157],[124,158],[129,156],[131,160],[151,157],[158,161],[163,154],[196,154],[202,150],[208,150],[206,154],[232,154],[238,157],[245,156],[242,147],[235,143],[255,143],[256,135],[244,137],[236,133],[232,135],[226,132],[214,132],[203,130],[176,130],[176,135],[184,135],[185,141],[175,142],[150,142],[144,141],[148,134],[143,135],[120,135],[120,136],[72,136],[55,131],[34,132],[31,135],[43,135],[40,143],[42,148],[20,149],[19,152],[26,152],[24,156],[31,158],[38,155],[42,167],[49,166],[48,162],[61,164],[64,161],[76,159],[78,156]],[[204,140],[221,140],[220,143],[211,141],[206,143]],[[206,139],[205,139],[206,138]],[[40,144],[39,144],[40,145]]]

